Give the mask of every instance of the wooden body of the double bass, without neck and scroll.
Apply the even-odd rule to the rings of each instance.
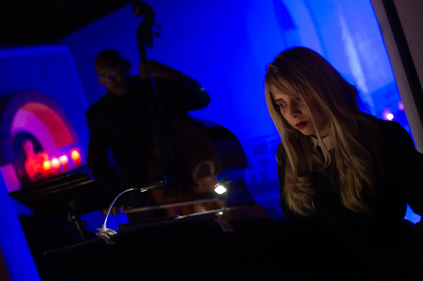
[[[217,177],[226,172],[243,175],[247,159],[241,144],[228,129],[205,120],[173,118],[166,126],[173,183],[152,190],[157,205],[200,199],[214,194]],[[151,142],[148,155],[148,174],[162,175],[161,151],[157,139]],[[243,181],[240,180],[243,185]],[[245,188],[245,187],[244,187]],[[222,202],[203,203],[169,208],[170,216],[188,215],[222,207]]]

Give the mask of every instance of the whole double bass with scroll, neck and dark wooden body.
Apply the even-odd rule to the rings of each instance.
[[[147,60],[146,46],[152,48],[155,23],[153,9],[143,1],[132,5],[135,16],[143,19],[137,29],[140,60]],[[247,159],[236,136],[226,128],[205,120],[184,119],[164,112],[159,94],[151,77],[151,93],[154,104],[154,137],[147,156],[150,178],[165,175],[168,185],[155,188],[152,195],[157,205],[192,201],[204,194],[214,193],[218,177],[231,177],[233,188],[245,188],[243,173]],[[188,215],[222,207],[213,203],[185,205],[168,208],[169,216]]]

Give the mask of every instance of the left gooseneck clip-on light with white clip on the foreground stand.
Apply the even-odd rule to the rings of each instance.
[[[148,182],[143,183],[140,186],[129,188],[119,193],[118,196],[116,196],[115,199],[113,199],[112,204],[110,204],[109,209],[107,210],[106,218],[104,218],[104,223],[101,228],[97,228],[99,233],[96,233],[96,235],[102,238],[104,241],[106,241],[107,244],[115,244],[115,241],[113,241],[109,235],[116,234],[117,232],[115,232],[113,229],[108,229],[106,227],[106,222],[107,222],[107,218],[109,217],[110,210],[112,210],[112,207],[115,204],[116,200],[119,198],[119,196],[132,190],[144,192],[148,189],[155,188],[157,186],[164,186],[166,182],[167,182],[166,177],[162,176],[154,180],[149,180]]]

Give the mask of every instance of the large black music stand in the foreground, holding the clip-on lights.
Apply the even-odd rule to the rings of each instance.
[[[210,219],[181,224],[161,221],[116,234],[114,245],[95,239],[50,250],[44,256],[77,280],[95,276],[121,280],[133,276],[147,280],[233,276],[250,280],[251,276],[263,279],[278,274],[283,280],[339,280],[342,278],[326,277],[363,268],[354,253],[338,246],[343,240],[317,221],[255,218],[230,223],[235,232],[222,231]],[[324,258],[316,259],[321,253]]]

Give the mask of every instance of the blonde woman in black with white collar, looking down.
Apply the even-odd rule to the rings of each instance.
[[[423,156],[394,121],[360,109],[357,89],[313,50],[295,47],[268,65],[266,103],[286,218],[329,221],[369,256],[383,256],[423,214]]]

